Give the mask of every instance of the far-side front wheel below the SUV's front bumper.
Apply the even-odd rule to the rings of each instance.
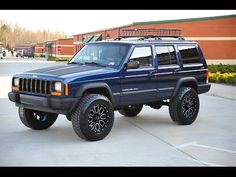
[[[58,114],[34,111],[19,107],[21,122],[32,129],[43,130],[51,127],[57,119]]]

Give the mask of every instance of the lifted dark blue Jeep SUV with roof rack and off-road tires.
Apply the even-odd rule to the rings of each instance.
[[[64,66],[14,75],[8,96],[22,123],[47,129],[64,114],[75,133],[90,141],[108,135],[114,110],[135,117],[143,105],[167,105],[174,122],[193,123],[198,94],[210,89],[199,45],[178,29],[122,32],[114,41],[88,43]]]

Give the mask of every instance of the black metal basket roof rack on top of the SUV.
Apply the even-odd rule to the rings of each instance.
[[[115,40],[122,38],[140,37],[139,40],[155,38],[161,40],[162,37],[178,38],[184,40],[181,35],[181,29],[178,28],[155,28],[155,29],[123,29],[121,35]]]

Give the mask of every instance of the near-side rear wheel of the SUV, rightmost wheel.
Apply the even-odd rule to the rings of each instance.
[[[171,119],[181,125],[195,121],[199,112],[199,98],[191,87],[181,87],[178,94],[169,104]]]

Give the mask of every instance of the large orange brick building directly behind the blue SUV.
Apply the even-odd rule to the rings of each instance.
[[[199,42],[208,61],[236,61],[236,15],[136,22],[117,28],[76,34],[73,36],[74,53],[87,42],[114,39],[121,34],[122,29],[128,28],[180,28],[185,39]]]

